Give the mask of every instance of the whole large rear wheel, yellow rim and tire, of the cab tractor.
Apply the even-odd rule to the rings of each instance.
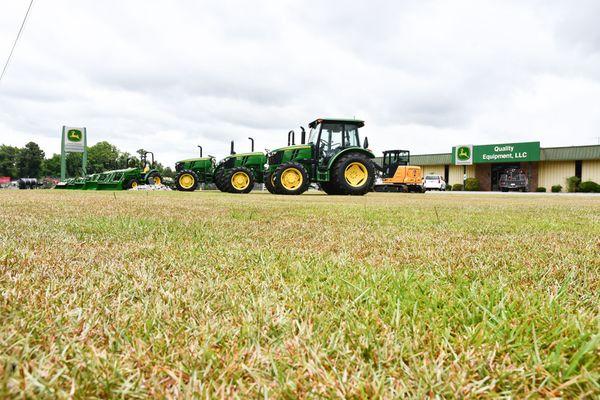
[[[343,155],[331,170],[331,181],[339,194],[362,196],[373,188],[375,167],[369,157],[361,153]]]

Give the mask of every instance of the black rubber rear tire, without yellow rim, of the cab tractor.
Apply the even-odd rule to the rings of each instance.
[[[346,169],[352,164],[362,164],[366,170],[366,178],[357,182],[359,185],[353,186],[346,179]],[[331,170],[330,185],[339,194],[351,196],[363,196],[371,191],[375,182],[375,166],[373,161],[364,154],[350,153],[340,157]]]

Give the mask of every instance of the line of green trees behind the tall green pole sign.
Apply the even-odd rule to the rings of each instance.
[[[87,148],[87,173],[108,171],[112,169],[126,168],[131,165],[139,165],[140,158],[137,155],[120,151],[109,142],[98,142]],[[81,176],[82,153],[69,153],[67,155],[67,175],[70,177]],[[156,169],[163,176],[173,176],[170,167],[163,167],[156,163]],[[29,142],[25,147],[0,145],[0,176],[17,178],[41,178],[60,177],[60,154],[53,154],[46,158],[44,151],[35,142]]]

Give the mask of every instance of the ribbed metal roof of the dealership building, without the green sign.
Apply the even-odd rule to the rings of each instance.
[[[600,160],[600,145],[540,148],[540,161]],[[381,157],[375,162],[381,165]],[[451,153],[411,154],[412,165],[451,165]]]

